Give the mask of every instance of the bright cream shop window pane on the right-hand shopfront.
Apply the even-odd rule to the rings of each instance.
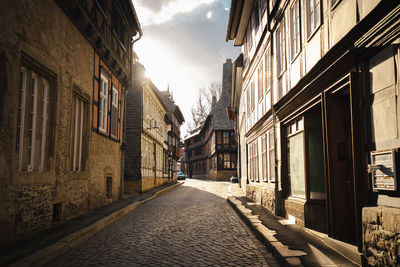
[[[305,198],[303,119],[291,123],[287,130],[289,193],[294,197]]]

